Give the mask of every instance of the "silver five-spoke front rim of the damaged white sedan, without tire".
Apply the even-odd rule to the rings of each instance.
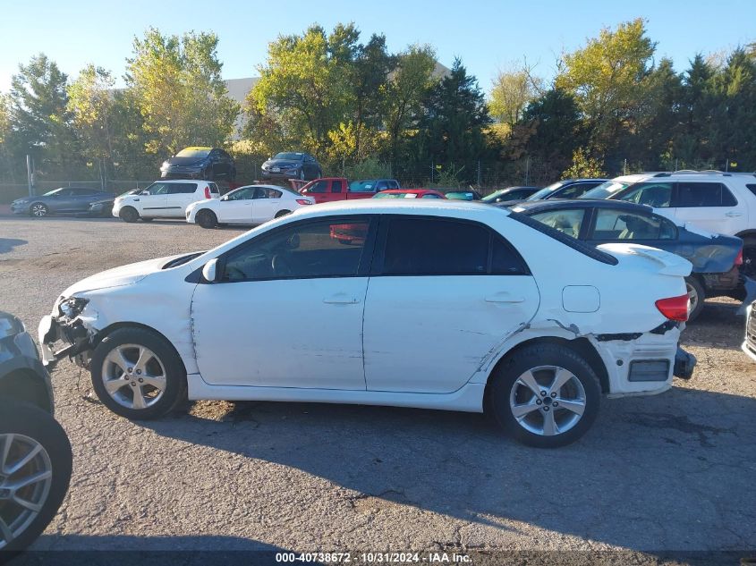
[[[122,344],[103,360],[102,381],[107,394],[122,407],[147,409],[166,391],[166,367],[149,348]]]

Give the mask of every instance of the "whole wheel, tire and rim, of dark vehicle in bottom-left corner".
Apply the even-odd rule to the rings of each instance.
[[[71,469],[71,444],[55,418],[30,405],[0,403],[0,552],[20,551],[45,530],[63,503]]]

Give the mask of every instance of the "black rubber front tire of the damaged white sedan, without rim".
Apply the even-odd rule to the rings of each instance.
[[[124,406],[123,404],[115,401],[115,398],[107,393],[105,383],[103,381],[103,369],[106,361],[106,357],[111,351],[115,351],[120,346],[126,346],[126,349],[130,349],[128,345],[133,344],[138,347],[147,348],[154,352],[160,364],[162,364],[161,371],[164,371],[165,376],[165,389],[162,394],[157,396],[154,402],[148,404],[145,408],[139,409],[133,407],[133,392],[132,389],[136,385],[136,380],[139,380],[136,374],[138,370],[136,367],[130,368],[133,370],[131,376],[126,378],[125,373],[121,377],[123,379],[123,388],[119,389],[116,394],[119,398],[126,398],[128,396],[123,394],[125,391],[132,393],[132,407]],[[133,361],[133,359],[132,359]],[[99,400],[116,415],[129,418],[131,420],[147,420],[150,418],[160,418],[169,413],[171,410],[186,399],[186,369],[183,367],[183,362],[175,351],[173,345],[168,342],[163,336],[157,334],[147,328],[126,327],[115,330],[112,334],[108,334],[106,338],[100,342],[92,352],[92,359],[90,363],[90,372],[92,376],[92,387],[97,393]],[[147,369],[145,369],[145,378],[147,378]],[[149,386],[149,385],[144,385]],[[141,386],[139,388],[140,391]],[[148,392],[150,393],[150,392]],[[126,401],[124,401],[126,402]]]

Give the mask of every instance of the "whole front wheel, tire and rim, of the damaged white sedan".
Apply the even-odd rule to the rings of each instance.
[[[119,328],[98,344],[90,362],[99,400],[134,420],[166,415],[186,396],[186,371],[174,347],[146,328]]]

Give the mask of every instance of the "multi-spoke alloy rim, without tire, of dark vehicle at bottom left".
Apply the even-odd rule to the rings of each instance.
[[[0,435],[0,550],[37,518],[53,482],[42,444],[26,435]]]

